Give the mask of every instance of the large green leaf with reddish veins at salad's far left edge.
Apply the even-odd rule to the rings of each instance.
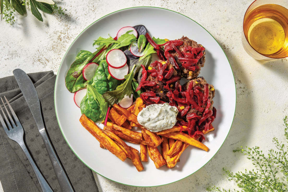
[[[76,59],[65,77],[65,85],[70,92],[76,92],[86,86],[86,81],[83,78],[82,70],[89,62],[98,62],[98,56],[94,58],[100,50],[97,50],[93,54],[83,56]],[[94,59],[93,59],[94,58]]]

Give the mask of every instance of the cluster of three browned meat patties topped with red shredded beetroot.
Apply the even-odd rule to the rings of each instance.
[[[215,89],[203,77],[198,77],[205,62],[205,48],[196,41],[182,37],[168,41],[164,54],[166,61],[151,63],[147,71],[142,66],[145,70],[143,74],[147,73],[139,82],[139,88],[145,91],[141,94],[144,102],[147,105],[168,102],[177,107],[177,117],[184,120],[179,120],[179,123],[188,127],[190,136],[213,128]],[[180,85],[181,77],[190,81]]]

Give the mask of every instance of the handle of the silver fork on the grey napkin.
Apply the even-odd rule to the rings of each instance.
[[[49,184],[47,183],[47,181],[45,180],[45,178],[43,177],[43,175],[41,174],[40,170],[38,169],[38,167],[36,166],[34,160],[32,159],[26,145],[24,144],[24,142],[20,145],[21,148],[23,149],[26,157],[28,158],[34,172],[35,172],[35,175],[39,181],[39,184],[41,186],[41,189],[42,191],[44,192],[53,192],[51,187],[49,186]]]

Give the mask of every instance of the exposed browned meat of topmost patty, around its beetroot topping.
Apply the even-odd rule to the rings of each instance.
[[[203,47],[201,44],[198,44],[196,41],[193,41],[193,40],[189,39],[188,37],[183,36],[179,40],[183,41],[183,45],[177,47],[181,52],[183,52],[183,48],[187,47],[187,46],[191,46],[192,48]],[[198,77],[198,75],[200,73],[200,69],[201,69],[201,67],[204,66],[204,63],[205,63],[205,50],[203,51],[203,56],[199,59],[198,63],[196,64],[199,67],[199,69],[196,69],[195,71],[185,69],[182,66],[182,62],[180,62],[178,60],[179,55],[175,50],[169,51],[169,53],[172,54],[172,56],[175,58],[177,64],[179,65],[179,67],[181,69],[181,74],[183,75],[183,77],[185,77],[187,79],[194,79],[194,78]]]

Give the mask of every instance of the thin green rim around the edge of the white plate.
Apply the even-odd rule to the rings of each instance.
[[[150,7],[150,6],[139,6],[139,7]],[[139,7],[129,7],[129,8],[125,8],[125,9],[132,9],[132,8],[139,8]],[[165,9],[165,8],[161,8],[161,7],[152,7],[152,8]],[[118,11],[122,11],[122,10],[125,10],[125,9],[120,9],[120,10],[118,10]],[[170,9],[165,9],[165,10],[172,11],[172,10],[170,10]],[[114,11],[114,12],[112,12],[112,13],[115,13],[115,12],[118,12],[118,11]],[[172,12],[178,13],[178,12],[176,12],[176,11],[172,11]],[[109,13],[109,14],[103,16],[103,17],[106,17],[106,16],[108,16],[108,15],[110,15],[110,14],[112,14],[112,13]],[[181,13],[178,13],[178,14],[183,15],[183,14],[181,14]],[[185,16],[185,15],[183,15],[183,16]],[[96,21],[102,19],[103,17],[97,19]],[[187,16],[185,16],[185,17],[187,17]],[[187,18],[189,18],[189,17],[187,17]],[[189,18],[189,19],[191,19],[191,18]],[[193,19],[191,19],[191,20],[194,21]],[[95,23],[96,21],[94,21],[93,23]],[[194,22],[196,22],[196,21],[194,21]],[[91,23],[90,25],[92,25],[93,23]],[[197,22],[196,22],[196,23],[197,23]],[[197,23],[197,24],[200,25],[199,23]],[[90,25],[89,25],[89,26],[90,26]],[[81,33],[83,33],[89,26],[87,26]],[[200,25],[200,26],[201,26],[203,29],[205,29],[202,25]],[[206,29],[205,29],[205,30],[206,30]],[[206,31],[207,31],[207,30],[206,30]],[[209,33],[209,31],[207,31],[207,32]],[[81,33],[79,33],[79,35],[80,35]],[[209,34],[211,35],[211,33],[209,33]],[[74,43],[74,41],[79,37],[79,35],[73,40],[73,42],[71,43],[71,45],[72,45],[72,44]],[[213,37],[213,35],[211,35],[211,36]],[[213,37],[213,39],[215,39],[215,38]],[[218,41],[217,41],[216,39],[215,39],[215,41],[218,43]],[[69,50],[69,48],[71,47],[71,45],[68,47],[67,51]],[[219,43],[218,43],[218,45],[220,46]],[[220,46],[220,48],[222,49],[221,46]],[[61,65],[62,65],[62,62],[63,62],[64,57],[65,57],[66,54],[67,54],[67,51],[65,52],[65,54],[64,54],[64,56],[63,56],[63,58],[62,58],[61,64],[60,64],[60,66],[59,66],[59,68],[58,68],[58,71],[59,71],[59,69],[60,69],[60,67],[61,67]],[[227,55],[226,55],[226,53],[224,52],[223,49],[222,49],[222,51],[223,51],[223,53],[225,54],[225,56],[226,56],[226,58],[227,58]],[[228,60],[228,58],[227,58],[227,60]],[[228,63],[229,63],[229,65],[230,65],[230,68],[231,68],[231,71],[232,71],[232,67],[231,67],[231,64],[230,64],[229,60],[228,60]],[[232,75],[233,75],[233,77],[234,77],[233,71],[232,71]],[[58,79],[58,75],[56,76],[55,87],[54,87],[54,107],[55,107],[56,118],[57,118],[57,121],[58,121],[58,116],[57,116],[57,112],[56,112],[56,105],[55,105],[55,98],[56,98],[55,89],[56,89],[57,79]],[[234,121],[234,117],[235,117],[235,112],[236,112],[237,92],[236,92],[235,77],[234,77],[234,84],[235,84],[235,99],[236,99],[236,100],[235,100],[235,109],[234,109],[234,115],[233,115],[233,119],[232,119],[232,122],[231,122],[231,126],[230,126],[230,128],[229,128],[228,134],[229,134],[229,132],[230,132],[230,130],[231,130],[231,127],[232,127],[232,124],[233,124],[233,121]],[[60,128],[60,130],[61,130],[61,133],[62,133],[64,139],[66,140],[66,138],[65,138],[65,136],[64,136],[64,134],[63,134],[63,132],[62,132],[62,129],[61,129],[61,127],[60,127],[59,121],[58,121],[58,125],[59,125],[59,128]],[[227,134],[227,136],[228,136],[228,134]],[[227,136],[226,136],[226,138],[227,138]],[[219,147],[219,149],[220,149],[220,148],[222,147],[222,145],[224,144],[226,138],[224,139],[224,141],[223,141],[223,143],[221,144],[221,146]],[[66,140],[66,142],[67,142],[67,140]],[[69,145],[68,142],[67,142],[67,144],[68,144],[68,146],[70,147],[70,145]],[[70,147],[70,149],[73,151],[73,149],[72,149],[71,147]],[[219,149],[217,150],[216,153],[218,153]],[[73,151],[73,153],[78,157],[78,155],[77,155],[74,151]],[[213,157],[216,155],[216,153],[213,155]],[[211,157],[211,159],[212,159],[213,157]],[[79,158],[79,157],[78,157],[78,158]],[[80,159],[80,158],[79,158],[79,159]],[[209,161],[211,161],[211,159],[209,159]],[[82,161],[82,159],[80,159],[80,160]],[[208,163],[209,161],[207,161],[207,163]],[[82,162],[83,162],[83,161],[82,161]],[[84,163],[84,162],[83,162],[83,163]],[[207,164],[207,163],[206,163],[206,164]],[[84,164],[85,164],[85,163],[84,163]],[[202,167],[204,167],[206,164],[204,164]],[[85,164],[85,165],[86,165],[88,168],[90,168],[87,164]],[[202,168],[202,167],[201,167],[201,168]],[[199,169],[201,169],[201,168],[199,168]],[[96,172],[95,170],[93,170],[92,168],[90,168],[90,169],[91,169],[92,171],[94,171],[95,173],[97,173],[97,172]],[[198,169],[198,170],[199,170],[199,169]],[[191,173],[190,175],[196,173],[198,170],[196,170],[195,172]],[[97,174],[99,174],[99,173],[97,173]],[[101,175],[101,174],[99,174],[99,175]],[[188,175],[188,176],[186,176],[186,177],[189,177],[190,175]],[[103,176],[103,175],[101,175],[101,176],[102,176],[102,177],[105,177],[105,176]],[[185,179],[186,177],[184,177],[184,178],[182,178],[182,179]],[[107,177],[105,177],[105,178],[107,178]],[[109,178],[107,178],[107,179],[109,179]],[[182,180],[182,179],[179,179],[179,180],[177,180],[177,181],[180,181],[180,180]],[[114,181],[114,180],[112,180],[112,179],[109,179],[109,180]],[[177,182],[177,181],[173,181],[173,182],[171,182],[171,183],[175,183],[175,182]],[[120,182],[117,182],[117,181],[114,181],[114,182],[120,183]],[[171,183],[166,183],[166,184],[163,184],[163,185],[168,185],[168,184],[171,184]],[[127,184],[124,184],[124,183],[120,183],[120,184],[122,184],[122,185],[127,185]],[[145,186],[145,187],[158,187],[158,186],[163,186],[163,185],[154,185],[154,186]],[[142,186],[136,186],[136,185],[128,185],[128,186],[132,186],[132,187],[142,187]]]

